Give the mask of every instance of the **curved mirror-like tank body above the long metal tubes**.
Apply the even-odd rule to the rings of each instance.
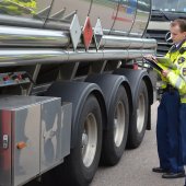
[[[35,0],[36,8],[21,1],[0,2],[0,24],[68,30],[77,13],[81,26],[89,15],[92,27],[101,19],[105,34],[141,37],[151,12],[151,0]],[[14,7],[19,11],[9,11]]]

